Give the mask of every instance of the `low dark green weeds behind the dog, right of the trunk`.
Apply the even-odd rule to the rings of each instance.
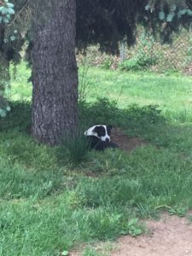
[[[79,104],[79,119],[86,126],[103,124],[118,125],[127,128],[148,126],[149,124],[164,123],[165,119],[160,114],[157,105],[139,107],[132,104],[128,108],[120,109],[116,102],[110,102],[107,98],[99,98],[93,104],[81,102]]]

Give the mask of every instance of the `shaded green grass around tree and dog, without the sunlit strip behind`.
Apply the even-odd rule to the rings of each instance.
[[[89,161],[70,172],[58,165],[56,147],[35,143],[28,134],[31,106],[11,103],[12,111],[0,120],[3,255],[14,255],[15,248],[20,255],[59,255],[55,248],[68,250],[74,243],[120,234],[136,236],[143,232],[137,217],[167,208],[184,215],[192,207],[192,160],[183,157],[191,154],[189,125],[167,122],[156,106],[121,110],[102,99],[79,108],[84,125],[108,122],[152,146],[131,153],[90,152]],[[79,175],[86,170],[103,175]],[[10,246],[18,237],[19,245]]]

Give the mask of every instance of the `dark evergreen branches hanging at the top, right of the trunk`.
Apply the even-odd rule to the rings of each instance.
[[[135,42],[137,24],[160,34],[162,42],[170,41],[179,25],[189,26],[191,7],[181,0],[78,0],[77,45],[86,48],[99,43],[102,50],[116,53],[119,41]]]

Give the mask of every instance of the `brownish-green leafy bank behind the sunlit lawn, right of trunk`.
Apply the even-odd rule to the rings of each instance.
[[[119,45],[120,48],[120,45]],[[160,44],[151,33],[137,28],[137,43],[134,46],[125,45],[124,61],[119,55],[108,55],[99,50],[99,46],[88,47],[85,55],[77,55],[79,64],[120,68],[126,71],[148,70],[155,73],[192,74],[192,30],[182,29],[174,34],[172,44]]]

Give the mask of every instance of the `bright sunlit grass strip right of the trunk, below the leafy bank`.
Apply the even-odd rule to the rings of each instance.
[[[107,96],[117,101],[119,108],[127,108],[132,103],[139,106],[155,104],[167,117],[192,120],[192,79],[189,77],[125,73],[89,67],[84,79],[89,102],[94,102],[96,96]]]

